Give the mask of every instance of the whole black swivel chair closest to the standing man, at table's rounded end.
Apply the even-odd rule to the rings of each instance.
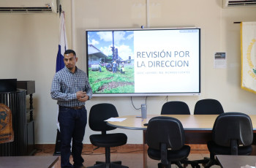
[[[116,129],[108,126],[108,118],[118,117],[118,112],[113,104],[95,104],[91,107],[89,114],[89,126],[93,131],[101,131],[102,134],[91,134],[91,144],[97,147],[105,148],[105,162],[97,161],[92,167],[111,167],[111,168],[128,168],[121,165],[121,161],[110,162],[110,147],[125,145],[127,135],[123,133],[107,134],[107,131]],[[90,167],[90,168],[92,168]]]

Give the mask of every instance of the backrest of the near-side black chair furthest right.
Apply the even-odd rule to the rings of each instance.
[[[252,145],[251,118],[241,112],[225,112],[216,118],[212,134],[217,145],[230,147],[232,140],[237,145]]]

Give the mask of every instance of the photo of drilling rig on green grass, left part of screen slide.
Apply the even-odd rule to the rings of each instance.
[[[93,93],[134,93],[133,31],[89,31],[87,40]]]

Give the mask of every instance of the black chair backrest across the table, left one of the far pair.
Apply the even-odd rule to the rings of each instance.
[[[189,106],[180,101],[166,102],[162,105],[161,115],[190,115]]]

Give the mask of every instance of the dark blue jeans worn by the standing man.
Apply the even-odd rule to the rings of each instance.
[[[61,129],[61,168],[77,168],[83,166],[84,160],[81,154],[83,150],[83,137],[87,123],[86,108],[83,107],[83,109],[74,110],[59,107],[58,121]],[[74,165],[69,162],[71,140]]]

